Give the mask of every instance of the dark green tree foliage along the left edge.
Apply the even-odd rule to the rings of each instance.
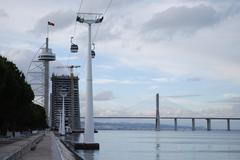
[[[46,127],[45,112],[32,103],[34,93],[17,66],[0,56],[0,129],[27,130]]]

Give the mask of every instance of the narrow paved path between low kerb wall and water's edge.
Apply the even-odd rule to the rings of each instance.
[[[46,133],[35,150],[28,152],[23,160],[62,160],[61,153],[52,132]]]

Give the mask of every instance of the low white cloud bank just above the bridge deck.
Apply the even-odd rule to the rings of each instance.
[[[155,102],[155,101],[154,101]],[[162,117],[238,117],[240,106],[198,104],[195,108],[186,107],[193,101],[181,99],[161,99],[160,116]],[[192,105],[191,104],[191,105]],[[201,105],[205,105],[202,107]],[[152,116],[156,115],[155,103],[149,101],[148,105],[137,101],[134,105],[95,104],[96,116]]]

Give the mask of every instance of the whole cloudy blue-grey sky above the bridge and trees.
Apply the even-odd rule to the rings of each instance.
[[[86,107],[87,26],[77,12],[104,13],[93,26],[94,112],[97,116],[239,117],[238,0],[0,0],[0,54],[25,74],[44,44],[47,21],[56,66],[81,65]],[[70,37],[79,45],[70,53]]]

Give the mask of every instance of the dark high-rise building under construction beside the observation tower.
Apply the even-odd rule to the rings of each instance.
[[[67,75],[52,75],[52,94],[51,94],[51,113],[52,113],[52,127],[58,129],[60,122],[60,114],[63,106],[63,98],[60,94],[64,89],[67,92],[67,96],[64,100],[65,105],[65,126],[69,126],[72,130],[80,129],[80,107],[79,107],[79,90],[77,76],[73,77],[73,94],[71,96],[71,76]],[[74,105],[72,110],[71,97],[74,98]],[[73,113],[73,118],[72,118]],[[73,121],[73,122],[72,122]]]

